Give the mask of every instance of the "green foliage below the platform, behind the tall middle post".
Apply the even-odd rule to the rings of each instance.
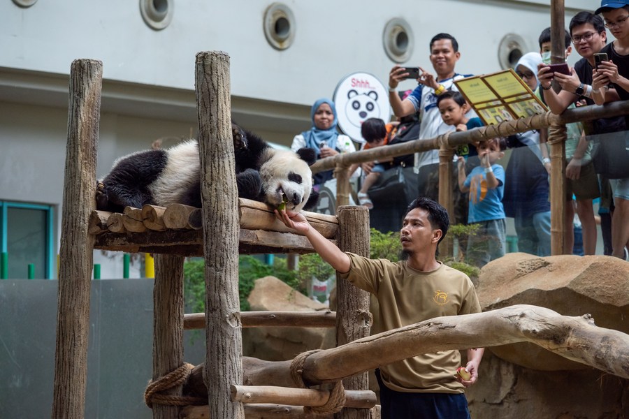
[[[192,311],[205,311],[205,274],[203,259],[187,260],[184,264],[184,290],[186,303]],[[299,281],[296,273],[287,268],[285,258],[273,258],[273,266],[267,265],[254,256],[243,255],[238,258],[238,295],[240,311],[249,311],[247,301],[254,288],[256,279],[268,276],[284,281],[291,288],[297,288]]]

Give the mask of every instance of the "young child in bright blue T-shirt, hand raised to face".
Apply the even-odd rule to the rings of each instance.
[[[480,166],[465,176],[465,159],[458,157],[458,187],[470,192],[468,223],[477,224],[475,235],[468,237],[466,257],[477,267],[505,256],[507,224],[503,207],[505,170],[496,164],[505,153],[502,138],[480,142],[477,146]]]

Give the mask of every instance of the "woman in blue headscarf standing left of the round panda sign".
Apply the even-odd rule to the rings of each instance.
[[[312,120],[312,128],[295,135],[291,150],[296,152],[302,147],[310,147],[315,150],[317,159],[356,151],[352,139],[336,130],[336,108],[333,101],[328,98],[317,100],[310,110],[310,119]],[[315,188],[332,177],[333,170],[316,173],[314,176]]]

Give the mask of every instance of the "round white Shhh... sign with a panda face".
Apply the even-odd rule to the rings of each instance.
[[[370,73],[352,73],[342,78],[332,100],[338,127],[356,142],[365,142],[361,135],[365,119],[379,118],[385,123],[391,119],[389,90]]]

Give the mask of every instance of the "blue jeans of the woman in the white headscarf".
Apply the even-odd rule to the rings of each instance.
[[[550,211],[516,217],[518,250],[537,256],[550,256]]]

